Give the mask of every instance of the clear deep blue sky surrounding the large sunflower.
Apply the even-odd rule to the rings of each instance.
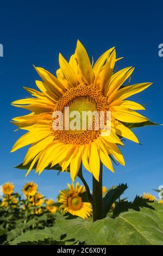
[[[16,190],[27,181],[35,181],[40,192],[55,198],[58,190],[71,182],[69,174],[57,176],[56,171],[40,176],[13,167],[21,163],[27,148],[10,153],[16,139],[23,132],[14,132],[11,118],[25,114],[10,102],[29,96],[23,86],[36,88],[39,77],[32,64],[53,74],[58,69],[58,54],[69,58],[79,39],[96,60],[101,53],[116,46],[117,56],[125,57],[118,69],[135,66],[131,83],[153,82],[153,86],[131,99],[146,104],[145,114],[152,121],[162,123],[163,57],[158,56],[158,45],[163,43],[162,6],[147,1],[3,1],[0,16],[1,85],[1,170],[0,184],[14,182]],[[162,126],[134,130],[142,145],[126,141],[122,149],[126,166],[115,166],[115,174],[104,168],[106,187],[127,182],[126,196],[153,192],[163,184]],[[91,186],[91,175],[85,172]]]

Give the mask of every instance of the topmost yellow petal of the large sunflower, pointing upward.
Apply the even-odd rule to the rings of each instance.
[[[76,54],[77,54],[79,69],[83,76],[84,82],[86,84],[93,84],[94,74],[93,74],[92,65],[90,63],[89,56],[87,55],[87,52],[84,46],[81,44],[79,40],[77,41]]]

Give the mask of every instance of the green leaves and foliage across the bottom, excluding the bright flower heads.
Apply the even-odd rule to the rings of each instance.
[[[96,222],[68,212],[51,214],[45,205],[31,205],[30,198],[22,199],[18,194],[16,204],[8,197],[4,201],[7,205],[0,206],[0,244],[163,245],[162,205],[139,196],[133,202],[121,199],[126,189],[127,184],[120,184],[105,192],[105,218]],[[86,193],[79,196],[87,202]],[[41,214],[36,214],[40,208]]]

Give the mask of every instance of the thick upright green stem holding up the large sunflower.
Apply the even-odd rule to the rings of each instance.
[[[93,176],[93,221],[102,220],[103,212],[103,195],[102,195],[102,176],[103,165],[100,163],[99,181]]]

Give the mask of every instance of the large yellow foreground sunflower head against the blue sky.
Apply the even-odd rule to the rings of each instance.
[[[121,59],[121,58],[119,58]],[[36,164],[39,174],[49,164],[55,168],[60,164],[62,171],[70,166],[71,178],[74,181],[80,164],[99,180],[100,161],[111,172],[114,172],[110,157],[124,165],[123,155],[118,145],[123,145],[121,137],[139,143],[127,123],[142,123],[148,119],[135,110],[145,109],[139,103],[125,100],[131,95],[140,93],[152,83],[139,83],[123,86],[134,71],[132,66],[114,71],[117,60],[115,47],[104,52],[95,65],[91,65],[89,56],[78,40],[74,54],[69,62],[59,54],[60,68],[57,77],[43,68],[35,70],[42,78],[36,81],[40,91],[24,88],[33,97],[12,102],[13,106],[28,109],[31,113],[12,119],[12,123],[27,133],[18,139],[11,152],[32,144],[24,158],[23,165],[30,163],[27,174]],[[70,129],[68,115],[78,111],[81,121],[84,112],[111,112],[110,134],[107,133],[107,119],[104,118],[103,129],[95,129],[95,118],[92,118],[92,129],[84,124],[85,129]],[[64,127],[60,129],[54,113],[62,113]],[[61,120],[61,119],[59,119]],[[72,120],[74,121],[74,120]],[[59,127],[57,129],[57,127]],[[83,127],[83,126],[82,126]],[[80,127],[81,128],[81,127]],[[96,161],[95,161],[96,160]]]

